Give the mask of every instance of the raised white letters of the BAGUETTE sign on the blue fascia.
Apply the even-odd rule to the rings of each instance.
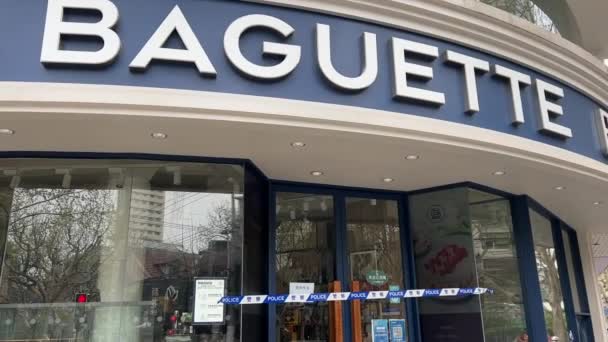
[[[79,10],[95,13],[100,20],[96,22],[67,20],[66,11]],[[193,20],[193,19],[191,19]],[[40,61],[44,65],[55,68],[62,66],[103,66],[115,62],[121,52],[121,36],[117,25],[119,9],[110,0],[48,0],[46,21]],[[242,46],[242,37],[247,31],[262,29],[272,32],[277,41],[263,41],[261,54],[272,57],[272,63],[259,63],[247,56]],[[357,75],[344,75],[335,67],[332,60],[332,32],[329,25],[317,23],[314,28],[314,46],[316,48],[314,61],[322,78],[339,92],[357,94],[371,87],[378,79],[381,67],[390,68],[392,96],[395,101],[404,101],[420,106],[442,107],[446,104],[446,96],[437,89],[425,88],[425,83],[436,76],[433,65],[445,64],[460,70],[462,75],[462,93],[464,94],[463,115],[474,116],[480,111],[478,78],[483,74],[491,74],[506,85],[509,92],[511,108],[508,122],[513,126],[535,125],[534,129],[551,137],[568,140],[573,137],[573,130],[558,123],[564,113],[563,103],[568,101],[562,87],[551,82],[533,78],[530,75],[513,70],[500,63],[490,63],[486,60],[472,57],[451,49],[440,51],[436,46],[415,42],[412,40],[391,37],[378,39],[372,32],[362,32],[360,51],[351,54],[361,55],[360,72]],[[187,63],[193,65],[204,78],[202,82],[213,82],[218,76],[214,61],[209,58],[208,49],[223,49],[226,59],[244,77],[260,81],[276,81],[287,78],[301,64],[305,56],[303,46],[288,43],[288,39],[297,34],[296,30],[286,21],[266,14],[247,14],[233,20],[223,33],[223,46],[207,46],[199,39],[184,12],[175,5],[158,24],[156,31],[141,42],[141,49],[130,60],[132,71],[146,71],[154,67],[151,62]],[[205,34],[216,34],[206,32]],[[177,35],[182,41],[180,48],[167,47],[172,36]],[[62,40],[67,36],[91,38],[101,41],[97,50],[63,49]],[[281,41],[283,40],[283,41]],[[334,42],[335,43],[335,42]],[[388,46],[390,54],[387,58],[379,58],[379,49]],[[333,51],[334,54],[336,53]],[[421,57],[431,61],[431,66],[416,62]],[[388,60],[386,60],[388,59]],[[223,72],[223,71],[220,71]],[[529,92],[535,100],[534,109],[524,109],[522,96]],[[533,112],[532,112],[533,111]],[[608,155],[608,119],[603,111],[599,111],[597,122],[600,134],[600,145],[603,153]]]

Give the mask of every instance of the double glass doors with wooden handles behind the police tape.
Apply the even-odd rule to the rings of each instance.
[[[273,194],[275,293],[405,288],[402,241],[411,239],[400,196],[282,186]],[[404,299],[294,303],[276,305],[270,315],[276,341],[372,341],[374,330],[389,333],[389,322],[405,338],[408,305]]]

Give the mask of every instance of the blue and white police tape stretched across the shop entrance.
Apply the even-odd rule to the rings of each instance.
[[[445,289],[417,289],[397,291],[369,291],[369,292],[330,292],[311,294],[284,294],[284,295],[252,295],[252,296],[226,296],[218,304],[249,305],[249,304],[283,304],[283,303],[319,303],[342,302],[353,300],[383,300],[400,298],[432,298],[432,297],[470,297],[484,294],[493,294],[488,288],[445,288]]]

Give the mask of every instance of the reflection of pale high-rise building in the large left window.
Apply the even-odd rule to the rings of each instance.
[[[133,189],[129,219],[130,234],[141,240],[162,241],[164,221],[165,193]]]

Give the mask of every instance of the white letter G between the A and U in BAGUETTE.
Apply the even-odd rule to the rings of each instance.
[[[263,66],[249,61],[241,51],[240,40],[243,33],[254,27],[266,27],[284,38],[294,32],[286,22],[268,15],[252,14],[235,20],[224,34],[224,51],[228,60],[240,71],[251,77],[274,80],[289,75],[300,63],[301,48],[297,45],[264,42],[264,54],[284,56],[283,61],[273,66]]]

